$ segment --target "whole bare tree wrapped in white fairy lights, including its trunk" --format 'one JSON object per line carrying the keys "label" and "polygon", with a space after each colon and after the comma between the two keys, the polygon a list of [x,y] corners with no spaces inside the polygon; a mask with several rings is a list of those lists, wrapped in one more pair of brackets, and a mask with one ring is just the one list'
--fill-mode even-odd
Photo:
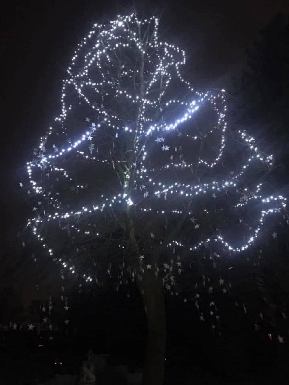
{"label": "whole bare tree wrapped in white fairy lights, including its trunk", "polygon": [[[159,40],[156,17],[95,24],[67,70],[61,114],[27,163],[29,182],[20,183],[33,207],[27,227],[65,278],[116,290],[136,283],[147,385],[163,383],[164,290],[177,291],[194,255],[199,272],[202,261],[218,272],[208,294],[214,285],[225,293],[219,254],[248,249],[264,217],[285,205],[282,196],[262,201],[259,179],[272,157],[244,132],[227,133],[225,92],[195,91],[183,64],[185,53]],[[248,209],[256,204],[257,213]]]}

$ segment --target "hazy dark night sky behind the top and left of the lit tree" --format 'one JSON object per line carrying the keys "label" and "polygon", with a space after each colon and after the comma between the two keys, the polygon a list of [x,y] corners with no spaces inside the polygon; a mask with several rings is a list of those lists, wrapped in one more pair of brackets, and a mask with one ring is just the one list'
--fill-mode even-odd
{"label": "hazy dark night sky behind the top and left of the lit tree", "polygon": [[[7,250],[15,242],[27,207],[19,191],[25,162],[59,113],[61,80],[77,43],[92,23],[110,20],[132,3],[26,0],[2,5],[1,218]],[[200,88],[227,89],[260,28],[276,13],[289,13],[286,0],[150,3],[151,10],[155,5],[163,9],[160,30],[166,40],[186,50],[186,76]]]}

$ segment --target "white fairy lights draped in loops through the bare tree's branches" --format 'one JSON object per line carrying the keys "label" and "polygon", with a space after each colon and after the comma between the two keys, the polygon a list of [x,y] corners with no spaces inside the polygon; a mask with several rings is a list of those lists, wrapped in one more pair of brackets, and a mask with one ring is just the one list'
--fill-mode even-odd
{"label": "white fairy lights draped in loops through the bare tree's branches", "polygon": [[[150,39],[144,39],[139,36],[137,31],[146,30],[146,27],[153,27],[153,32],[149,36]],[[141,27],[141,28],[140,28]],[[133,79],[134,71],[126,65],[118,67],[118,76],[111,76],[108,68],[114,69],[115,57],[119,50],[137,50],[137,55],[141,55],[147,60],[148,67],[144,70],[144,89],[143,93],[139,91],[131,91],[123,87],[123,79]],[[200,196],[210,197],[210,199],[218,199],[229,190],[238,189],[240,181],[246,176],[246,172],[250,170],[253,164],[261,164],[269,168],[272,166],[272,156],[264,156],[256,146],[255,139],[246,134],[239,132],[240,141],[242,141],[249,149],[250,156],[238,172],[231,172],[227,179],[212,180],[211,182],[198,181],[197,183],[181,183],[174,182],[166,184],[166,181],[161,181],[158,176],[154,176],[155,171],[182,169],[189,170],[193,166],[192,162],[186,161],[181,147],[171,147],[168,139],[177,134],[178,138],[185,141],[204,140],[213,132],[220,133],[219,147],[217,156],[214,159],[204,159],[200,157],[198,164],[212,169],[217,166],[223,159],[226,142],[225,121],[226,104],[224,90],[214,94],[213,92],[197,92],[189,82],[181,76],[180,67],[185,64],[185,52],[180,50],[175,45],[170,45],[166,42],[160,42],[158,39],[158,19],[155,17],[146,20],[138,20],[135,13],[128,16],[118,16],[108,25],[94,24],[91,31],[88,33],[77,47],[71,64],[67,69],[68,77],[63,81],[61,92],[61,113],[55,118],[55,124],[60,126],[60,133],[57,132],[57,145],[53,142],[55,138],[55,128],[49,127],[49,131],[40,138],[38,149],[35,149],[34,159],[27,162],[27,174],[29,182],[24,184],[20,182],[20,187],[26,189],[27,194],[35,203],[32,208],[32,217],[27,221],[27,227],[32,228],[32,233],[40,241],[44,250],[53,256],[57,261],[62,263],[63,268],[67,268],[72,273],[75,273],[75,266],[68,261],[62,261],[62,257],[54,255],[53,245],[48,244],[45,236],[42,235],[41,229],[47,222],[56,225],[64,223],[62,227],[67,228],[65,223],[72,223],[70,229],[79,236],[100,236],[99,233],[91,234],[85,226],[81,226],[79,220],[95,216],[96,214],[108,210],[110,207],[124,207],[138,205],[138,210],[141,212],[153,212],[155,215],[183,214],[184,211],[178,208],[156,209],[159,199],[167,201],[172,196],[178,196],[180,199],[194,199]],[[97,70],[97,81],[94,80],[94,71]],[[166,91],[172,80],[178,79],[180,84],[183,84],[187,89],[186,99],[180,98],[166,100]],[[161,81],[162,87],[159,86]],[[160,87],[158,96],[150,96],[153,94],[155,86]],[[71,99],[72,91],[74,90],[74,101],[67,102],[67,95]],[[95,102],[90,95],[96,95],[101,100]],[[119,104],[128,102],[130,105],[136,105],[140,109],[139,124],[132,125],[124,122],[116,112],[111,112],[109,109],[109,100],[117,99]],[[87,128],[74,139],[69,137],[69,117],[74,114],[74,110],[79,106],[79,103],[84,107],[89,108],[91,114],[89,117],[83,117]],[[175,108],[181,112],[171,118],[171,111]],[[204,107],[212,109],[215,113],[215,126],[210,127],[208,131],[200,136],[196,132],[181,132],[180,130],[188,121],[193,121],[198,111]],[[154,114],[152,115],[152,112]],[[154,116],[154,117],[153,117]],[[132,164],[129,164],[129,175],[134,171],[133,189],[129,189],[129,183],[123,182],[120,186],[120,191],[114,196],[103,196],[99,199],[88,201],[85,206],[68,208],[62,202],[63,191],[61,186],[58,191],[55,191],[55,185],[52,183],[52,175],[57,175],[57,181],[72,181],[72,175],[65,169],[65,165],[61,164],[67,156],[77,154],[84,160],[108,164],[111,170],[115,170],[116,162],[121,160],[101,159],[99,157],[98,143],[95,142],[96,133],[101,132],[104,128],[108,128],[111,133],[111,151],[118,145],[121,136],[130,135],[135,137],[135,150]],[[193,130],[193,129],[192,129]],[[79,130],[79,131],[82,131]],[[61,143],[60,139],[63,142]],[[150,146],[150,143],[153,142]],[[59,144],[60,143],[60,144]],[[168,143],[168,144],[167,144]],[[168,154],[168,159],[164,166],[151,167],[149,161],[150,147],[155,151],[155,147],[159,146],[158,151],[161,154]],[[111,153],[110,151],[110,153]],[[175,161],[174,156],[179,152],[179,161]],[[41,170],[42,177],[46,179],[43,182],[35,178],[35,171]],[[89,181],[87,181],[89,182]],[[52,184],[54,186],[52,186]],[[59,184],[57,184],[59,186]],[[86,189],[85,184],[77,184],[73,187],[77,189]],[[193,224],[193,231],[200,231],[200,241],[195,244],[183,244],[177,239],[172,239],[168,243],[168,247],[178,245],[187,247],[193,251],[208,243],[220,243],[225,248],[233,252],[240,252],[247,249],[256,238],[258,238],[261,226],[264,224],[264,219],[268,215],[277,214],[281,209],[286,207],[286,198],[281,195],[270,195],[269,197],[262,196],[260,190],[262,183],[255,187],[255,191],[246,192],[239,199],[238,203],[232,206],[233,209],[241,208],[249,203],[256,201],[262,203],[264,209],[260,210],[260,215],[256,218],[255,226],[250,226],[250,236],[243,244],[235,246],[230,244],[228,239],[224,239],[220,234],[220,230],[216,229],[216,233],[206,237],[202,234],[201,224],[195,218],[191,218],[192,212],[188,210],[187,215]],[[139,197],[141,191],[141,197]],[[150,199],[151,206],[146,204],[146,199]],[[76,201],[76,199],[75,199]],[[44,202],[46,206],[44,205]],[[141,203],[141,204],[139,204]],[[143,206],[142,206],[143,204]],[[45,207],[45,208],[44,208]],[[206,211],[206,210],[205,210]],[[208,213],[208,211],[207,211]],[[288,217],[284,216],[288,224]],[[41,225],[41,226],[40,226]],[[61,228],[61,226],[60,226]],[[277,233],[274,233],[277,234]],[[273,234],[272,234],[273,236]],[[153,233],[151,238],[157,243],[161,243]],[[273,236],[275,239],[276,236]],[[23,243],[25,246],[25,243]],[[91,276],[84,275],[87,281],[92,281]]]}

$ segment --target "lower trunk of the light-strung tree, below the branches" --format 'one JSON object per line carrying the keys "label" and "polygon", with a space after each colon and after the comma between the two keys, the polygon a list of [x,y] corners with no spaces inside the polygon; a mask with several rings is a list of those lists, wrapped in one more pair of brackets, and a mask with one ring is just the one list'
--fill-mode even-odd
{"label": "lower trunk of the light-strung tree, below the branches", "polygon": [[152,272],[142,282],[146,310],[147,348],[143,385],[163,385],[166,352],[166,312],[163,284]]}

